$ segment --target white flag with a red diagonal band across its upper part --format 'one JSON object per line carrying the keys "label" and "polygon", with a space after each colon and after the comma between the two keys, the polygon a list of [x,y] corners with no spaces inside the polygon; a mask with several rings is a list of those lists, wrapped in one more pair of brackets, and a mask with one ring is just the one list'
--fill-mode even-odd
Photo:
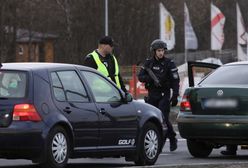
{"label": "white flag with a red diagonal band across its upper part", "polygon": [[225,16],[211,3],[211,49],[221,50],[224,43]]}

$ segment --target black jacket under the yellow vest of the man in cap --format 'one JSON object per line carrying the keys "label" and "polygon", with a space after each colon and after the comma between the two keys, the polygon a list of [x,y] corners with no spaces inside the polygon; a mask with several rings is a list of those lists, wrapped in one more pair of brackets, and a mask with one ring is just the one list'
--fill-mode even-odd
{"label": "black jacket under the yellow vest of the man in cap", "polygon": [[[115,61],[114,61],[113,55],[108,54],[108,55],[106,55],[106,57],[103,57],[97,52],[97,50],[96,50],[96,53],[99,55],[99,58],[102,61],[102,63],[107,67],[107,70],[108,70],[108,73],[109,73],[111,80],[113,82],[115,82]],[[97,69],[96,62],[95,62],[95,60],[91,54],[89,54],[85,57],[83,65]],[[119,76],[119,80],[120,80],[121,89],[124,92],[127,92],[120,73],[118,74],[118,76]]]}

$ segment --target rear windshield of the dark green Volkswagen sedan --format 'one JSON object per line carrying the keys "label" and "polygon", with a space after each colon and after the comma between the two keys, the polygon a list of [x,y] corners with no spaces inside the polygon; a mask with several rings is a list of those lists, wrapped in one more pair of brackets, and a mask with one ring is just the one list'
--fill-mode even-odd
{"label": "rear windshield of the dark green Volkswagen sedan", "polygon": [[246,85],[248,84],[247,65],[228,65],[218,68],[199,85]]}

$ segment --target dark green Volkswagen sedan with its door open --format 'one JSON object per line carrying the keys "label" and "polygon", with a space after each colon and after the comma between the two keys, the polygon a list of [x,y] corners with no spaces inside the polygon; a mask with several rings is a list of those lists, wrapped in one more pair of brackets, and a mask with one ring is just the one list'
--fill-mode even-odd
{"label": "dark green Volkswagen sedan with its door open", "polygon": [[[193,67],[217,68],[196,86]],[[213,148],[248,144],[248,62],[189,63],[190,86],[177,117],[190,154],[207,157]]]}

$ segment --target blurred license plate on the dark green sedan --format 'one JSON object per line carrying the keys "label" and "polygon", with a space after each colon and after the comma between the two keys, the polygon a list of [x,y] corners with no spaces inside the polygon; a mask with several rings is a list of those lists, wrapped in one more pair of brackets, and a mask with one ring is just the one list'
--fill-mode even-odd
{"label": "blurred license plate on the dark green sedan", "polygon": [[238,101],[236,99],[207,99],[204,102],[206,108],[237,108]]}

